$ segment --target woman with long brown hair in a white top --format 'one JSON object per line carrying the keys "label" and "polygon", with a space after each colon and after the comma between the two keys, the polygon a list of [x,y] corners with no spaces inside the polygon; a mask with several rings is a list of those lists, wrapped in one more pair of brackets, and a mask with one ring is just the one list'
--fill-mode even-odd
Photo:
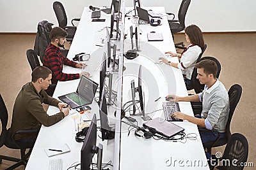
{"label": "woman with long brown hair in a white top", "polygon": [[190,45],[182,53],[166,52],[172,57],[178,57],[180,62],[170,62],[164,57],[160,57],[159,59],[163,60],[165,64],[181,69],[186,83],[191,85],[191,76],[196,60],[204,49],[204,36],[200,28],[196,25],[189,25],[184,31],[186,41],[188,41]]}

